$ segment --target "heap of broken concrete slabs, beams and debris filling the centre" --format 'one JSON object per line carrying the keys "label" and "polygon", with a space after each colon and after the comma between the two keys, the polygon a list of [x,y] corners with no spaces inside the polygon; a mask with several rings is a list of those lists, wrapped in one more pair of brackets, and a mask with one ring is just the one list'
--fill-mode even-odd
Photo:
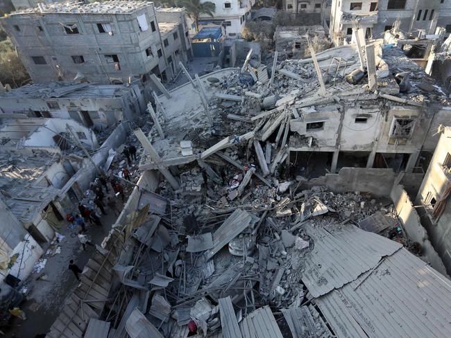
{"label": "heap of broken concrete slabs, beams and debris filling the centre", "polygon": [[[249,75],[268,75],[255,62],[207,79],[210,84],[196,77],[197,88],[186,86],[201,100],[187,103],[185,116],[172,115],[163,96],[167,118],[149,105],[154,123],[135,130],[133,142],[144,147],[140,168],[166,178],[155,193],[167,204],[160,210],[148,204],[148,213],[138,206],[117,224],[115,231],[130,229],[136,235],[126,236],[128,249],[121,256],[127,278],[103,309],[104,320],[117,328],[112,337],[124,330],[130,337],[142,337],[144,330],[153,337],[187,337],[189,332],[196,337],[289,337],[289,332],[334,337],[316,305],[322,293],[310,292],[309,260],[323,245],[316,233],[364,229],[394,241],[388,254],[404,246],[421,256],[421,245],[405,233],[391,199],[360,191],[334,193],[290,175],[291,119],[331,102],[374,101],[379,95],[381,102],[396,98],[414,105],[440,96],[419,89],[382,96],[370,91],[364,78],[344,84],[346,75],[359,69],[357,53],[344,48],[343,69],[325,71],[324,61],[334,54],[328,53],[313,60],[276,60],[271,82],[255,82]],[[320,74],[313,61],[322,64]],[[381,60],[378,64],[385,66]],[[203,86],[205,91],[198,89]],[[199,114],[203,118],[187,118]],[[146,229],[146,240],[140,229]],[[323,277],[318,278],[321,284]],[[266,329],[255,334],[262,325]]]}

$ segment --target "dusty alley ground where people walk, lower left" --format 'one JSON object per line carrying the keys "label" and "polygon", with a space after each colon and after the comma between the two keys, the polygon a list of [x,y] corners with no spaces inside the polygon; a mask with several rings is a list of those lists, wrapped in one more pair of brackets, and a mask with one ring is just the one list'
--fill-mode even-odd
{"label": "dusty alley ground where people walk, lower left", "polygon": [[[131,188],[128,189],[131,191]],[[110,196],[112,192],[110,189]],[[127,197],[127,195],[126,195]],[[121,200],[117,199],[117,207],[122,208]],[[76,207],[76,206],[75,206]],[[112,224],[117,219],[117,214],[107,209],[108,215],[102,215],[101,222],[103,226],[87,224],[87,235],[91,238],[93,244],[101,244],[105,235],[110,231]],[[78,227],[76,229],[69,228],[69,222],[60,223],[60,233],[65,238],[58,245],[61,247],[61,253],[55,256],[44,255],[48,258],[46,266],[40,274],[32,274],[26,285],[30,287],[30,291],[26,296],[26,301],[22,304],[22,310],[26,313],[27,319],[14,318],[10,321],[9,328],[4,337],[20,337],[33,338],[35,335],[43,334],[49,331],[53,321],[64,304],[66,297],[74,290],[77,280],[74,274],[67,269],[69,260],[74,259],[78,267],[83,269],[87,260],[94,251],[94,247],[87,245],[86,251],[83,251],[81,244],[77,238]],[[44,273],[46,281],[37,279]]]}

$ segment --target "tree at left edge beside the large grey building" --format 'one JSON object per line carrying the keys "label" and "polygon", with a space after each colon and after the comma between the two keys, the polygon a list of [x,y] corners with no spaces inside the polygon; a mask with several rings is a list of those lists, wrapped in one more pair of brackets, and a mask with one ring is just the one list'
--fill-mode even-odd
{"label": "tree at left edge beside the large grey building", "polygon": [[30,80],[9,37],[0,42],[0,82],[11,87],[20,87]]}

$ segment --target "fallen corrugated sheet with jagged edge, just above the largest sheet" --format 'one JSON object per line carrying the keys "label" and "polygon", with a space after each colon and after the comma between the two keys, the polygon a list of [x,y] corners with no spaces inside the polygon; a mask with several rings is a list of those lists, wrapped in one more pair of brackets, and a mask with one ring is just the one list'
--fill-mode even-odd
{"label": "fallen corrugated sheet with jagged edge, just above the largest sheet", "polygon": [[354,281],[372,269],[383,256],[402,247],[375,233],[346,224],[335,228],[305,226],[314,249],[305,254],[302,280],[314,297]]}

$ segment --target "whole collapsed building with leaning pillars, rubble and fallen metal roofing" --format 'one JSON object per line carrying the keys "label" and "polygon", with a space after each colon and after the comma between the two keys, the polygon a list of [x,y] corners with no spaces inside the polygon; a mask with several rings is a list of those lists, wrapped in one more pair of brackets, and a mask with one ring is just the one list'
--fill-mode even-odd
{"label": "whole collapsed building with leaning pillars, rubble and fallen metal roofing", "polygon": [[[48,337],[448,336],[447,272],[402,179],[449,103],[392,49],[276,53],[271,76],[249,53],[163,88],[134,131],[137,187]],[[321,148],[312,175],[296,154]]]}

